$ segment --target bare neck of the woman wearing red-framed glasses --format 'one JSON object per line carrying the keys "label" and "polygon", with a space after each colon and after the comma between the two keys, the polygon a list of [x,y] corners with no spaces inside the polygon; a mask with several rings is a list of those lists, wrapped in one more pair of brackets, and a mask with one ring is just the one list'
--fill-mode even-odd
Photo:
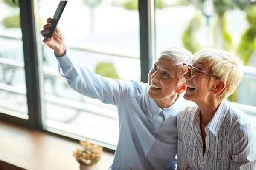
{"label": "bare neck of the woman wearing red-framed glasses", "polygon": [[212,120],[220,104],[221,104],[221,101],[218,101],[218,100],[197,104],[201,112],[201,115],[200,115],[201,125],[207,126],[209,124],[209,122]]}

